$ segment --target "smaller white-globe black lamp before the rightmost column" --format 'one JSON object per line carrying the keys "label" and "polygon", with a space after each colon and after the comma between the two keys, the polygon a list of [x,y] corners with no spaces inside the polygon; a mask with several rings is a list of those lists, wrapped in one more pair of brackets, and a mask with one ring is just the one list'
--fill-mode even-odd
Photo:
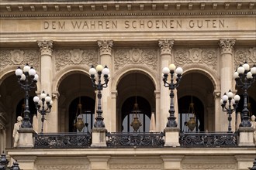
{"label": "smaller white-globe black lamp before the rightmost column", "polygon": [[[227,100],[228,100],[228,107],[226,107],[227,104]],[[220,100],[220,104],[222,107],[222,110],[227,112],[228,117],[228,131],[227,133],[232,133],[232,129],[231,129],[231,121],[232,121],[232,117],[231,114],[233,113],[233,111],[235,111],[237,109],[237,104],[240,100],[240,96],[239,95],[235,95],[231,92],[231,90],[229,90],[229,92],[226,94],[224,93],[222,99]],[[233,108],[231,107],[233,106]]]}

